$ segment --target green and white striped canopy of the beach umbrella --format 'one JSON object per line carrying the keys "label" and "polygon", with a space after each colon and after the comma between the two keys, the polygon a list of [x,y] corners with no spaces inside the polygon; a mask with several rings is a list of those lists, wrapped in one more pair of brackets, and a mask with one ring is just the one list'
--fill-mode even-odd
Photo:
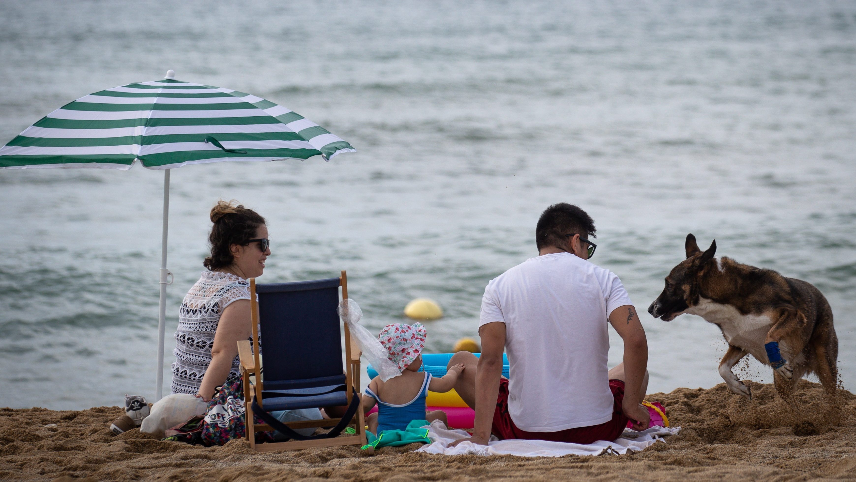
{"label": "green and white striped canopy of the beach umbrella", "polygon": [[330,159],[354,151],[315,122],[264,98],[165,79],[63,105],[0,147],[0,168],[128,170],[139,160],[163,170],[318,154]]}

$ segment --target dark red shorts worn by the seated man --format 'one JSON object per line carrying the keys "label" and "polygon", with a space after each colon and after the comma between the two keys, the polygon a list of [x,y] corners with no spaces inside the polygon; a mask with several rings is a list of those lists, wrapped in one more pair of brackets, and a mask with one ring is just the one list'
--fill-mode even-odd
{"label": "dark red shorts worn by the seated man", "polygon": [[560,431],[525,431],[520,430],[508,414],[508,378],[502,378],[499,383],[499,397],[496,398],[496,410],[493,412],[493,426],[490,431],[499,437],[526,438],[530,440],[550,440],[551,442],[592,443],[597,440],[615,440],[627,426],[627,417],[621,410],[624,400],[624,382],[609,380],[609,390],[612,390],[612,420],[600,425],[581,426]]}

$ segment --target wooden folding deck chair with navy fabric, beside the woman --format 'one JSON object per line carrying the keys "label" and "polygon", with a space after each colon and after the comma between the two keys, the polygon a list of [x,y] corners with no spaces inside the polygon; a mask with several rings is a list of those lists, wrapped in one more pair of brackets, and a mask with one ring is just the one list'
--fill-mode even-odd
{"label": "wooden folding deck chair with navy fabric, beside the woman", "polygon": [[[344,324],[346,367],[342,370],[342,330],[336,307],[340,286],[342,299],[348,298],[346,276],[342,271],[342,277],[338,278],[274,284],[256,284],[255,278],[250,278],[253,350],[248,340],[242,340],[238,342],[238,355],[244,381],[247,438],[253,449],[366,444],[366,422],[359,393],[360,349],[351,339],[348,324]],[[265,336],[261,356],[259,328]],[[264,359],[264,365],[260,359]],[[264,366],[264,370],[259,370],[259,366]],[[348,406],[348,412],[341,419],[285,424],[270,415],[277,410],[329,406]],[[265,420],[265,425],[254,424],[253,414]],[[356,435],[338,437],[352,420]],[[317,436],[306,437],[293,431],[331,425],[335,426],[329,433]],[[279,431],[291,441],[257,444],[255,433],[270,430]]]}

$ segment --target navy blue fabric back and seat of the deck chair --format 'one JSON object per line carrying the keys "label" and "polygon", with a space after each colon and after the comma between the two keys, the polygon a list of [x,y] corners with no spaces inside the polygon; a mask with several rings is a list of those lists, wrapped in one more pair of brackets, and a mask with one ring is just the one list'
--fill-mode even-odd
{"label": "navy blue fabric back and seat of the deck chair", "polygon": [[265,411],[348,404],[339,278],[256,284]]}

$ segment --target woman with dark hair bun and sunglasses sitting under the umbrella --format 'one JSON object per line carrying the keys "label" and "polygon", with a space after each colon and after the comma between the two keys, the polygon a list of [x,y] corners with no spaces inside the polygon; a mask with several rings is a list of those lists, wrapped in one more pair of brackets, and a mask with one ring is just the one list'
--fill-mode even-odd
{"label": "woman with dark hair bun and sunglasses sitting under the umbrella", "polygon": [[175,330],[173,393],[189,393],[205,402],[228,378],[240,376],[238,340],[252,334],[251,277],[265,271],[270,256],[265,218],[236,201],[211,208],[211,256],[199,281],[181,302]]}

